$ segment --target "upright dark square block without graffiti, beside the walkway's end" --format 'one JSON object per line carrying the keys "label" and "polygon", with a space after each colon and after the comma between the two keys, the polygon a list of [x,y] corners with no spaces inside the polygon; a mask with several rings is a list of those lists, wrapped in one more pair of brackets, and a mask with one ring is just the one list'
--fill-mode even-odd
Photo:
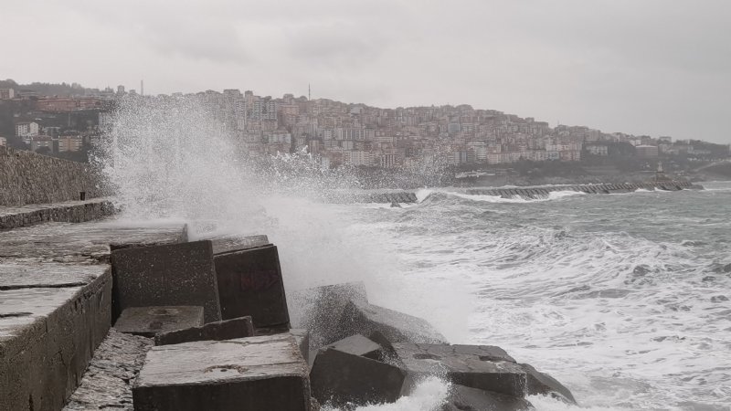
{"label": "upright dark square block without graffiti, beside the walkway's end", "polygon": [[128,307],[199,305],[206,322],[221,320],[210,241],[116,249],[111,268],[114,318]]}

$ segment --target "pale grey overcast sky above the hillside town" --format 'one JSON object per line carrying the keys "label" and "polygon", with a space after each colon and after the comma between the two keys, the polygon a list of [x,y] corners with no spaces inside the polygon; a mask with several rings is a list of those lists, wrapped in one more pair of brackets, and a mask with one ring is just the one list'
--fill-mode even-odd
{"label": "pale grey overcast sky above the hillside town", "polygon": [[731,142],[728,0],[1,0],[0,79],[471,104]]}

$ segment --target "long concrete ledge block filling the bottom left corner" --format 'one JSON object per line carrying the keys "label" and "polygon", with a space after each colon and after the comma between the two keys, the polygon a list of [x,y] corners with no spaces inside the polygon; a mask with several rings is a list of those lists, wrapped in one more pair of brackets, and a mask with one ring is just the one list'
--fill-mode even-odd
{"label": "long concrete ledge block filling the bottom left corner", "polygon": [[[16,284],[17,285],[17,284]],[[0,409],[60,409],[109,330],[111,274],[0,291]]]}

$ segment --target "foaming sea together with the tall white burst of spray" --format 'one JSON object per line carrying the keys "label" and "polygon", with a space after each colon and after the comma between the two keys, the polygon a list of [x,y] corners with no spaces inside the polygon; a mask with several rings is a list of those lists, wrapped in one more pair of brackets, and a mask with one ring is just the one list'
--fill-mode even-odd
{"label": "foaming sea together with the tall white burst of spray", "polygon": [[[583,408],[729,409],[731,184],[544,200],[442,188],[404,208],[327,204],[325,192],[357,179],[305,154],[251,160],[218,124],[193,100],[122,103],[96,158],[122,218],[267,234],[287,290],[363,280],[372,302],[450,342],[502,346]],[[431,378],[358,410],[438,409],[449,387]]]}

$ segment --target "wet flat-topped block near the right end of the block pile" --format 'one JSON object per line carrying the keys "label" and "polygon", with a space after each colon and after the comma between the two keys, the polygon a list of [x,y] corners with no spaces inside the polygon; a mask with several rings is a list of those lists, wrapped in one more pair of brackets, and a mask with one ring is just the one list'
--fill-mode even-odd
{"label": "wet flat-topped block near the right end of the block pile", "polygon": [[454,384],[523,397],[524,369],[499,347],[394,343],[398,363],[408,372],[405,393],[430,374],[446,374]]}

